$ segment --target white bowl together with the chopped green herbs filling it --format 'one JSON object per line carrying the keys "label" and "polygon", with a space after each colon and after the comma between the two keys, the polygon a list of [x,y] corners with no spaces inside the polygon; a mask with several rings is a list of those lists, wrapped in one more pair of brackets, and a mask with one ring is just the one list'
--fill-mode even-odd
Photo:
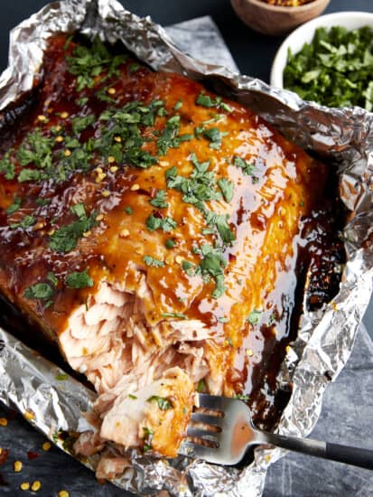
{"label": "white bowl together with the chopped green herbs filling it", "polygon": [[275,55],[271,85],[329,107],[373,110],[373,14],[326,14],[291,33]]}

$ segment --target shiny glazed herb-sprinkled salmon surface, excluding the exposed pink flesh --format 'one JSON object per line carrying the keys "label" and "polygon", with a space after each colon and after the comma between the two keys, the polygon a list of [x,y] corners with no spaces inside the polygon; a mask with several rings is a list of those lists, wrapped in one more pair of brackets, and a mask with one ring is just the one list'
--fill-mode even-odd
{"label": "shiny glazed herb-sprinkled salmon surface, excluding the exposed pink flesh", "polygon": [[310,308],[338,290],[327,168],[247,108],[96,44],[52,37],[3,115],[0,290],[57,340],[100,281],[131,291],[140,268],[148,325],[214,329],[224,393],[272,427],[304,287]]}

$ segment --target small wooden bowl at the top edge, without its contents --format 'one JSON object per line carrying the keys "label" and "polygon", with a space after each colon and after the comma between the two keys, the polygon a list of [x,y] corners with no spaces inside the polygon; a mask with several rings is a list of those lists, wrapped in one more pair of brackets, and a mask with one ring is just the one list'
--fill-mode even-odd
{"label": "small wooden bowl at the top edge, without its contents", "polygon": [[299,7],[269,5],[261,0],[231,0],[238,17],[251,29],[264,34],[289,33],[322,14],[330,0],[312,0]]}

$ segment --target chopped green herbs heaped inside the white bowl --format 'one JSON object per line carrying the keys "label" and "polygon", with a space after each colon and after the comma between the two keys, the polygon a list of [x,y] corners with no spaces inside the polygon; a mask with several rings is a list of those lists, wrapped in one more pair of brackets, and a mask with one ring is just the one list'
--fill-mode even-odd
{"label": "chopped green herbs heaped inside the white bowl", "polygon": [[373,109],[373,30],[319,28],[311,43],[292,54],[284,68],[284,88],[329,107]]}

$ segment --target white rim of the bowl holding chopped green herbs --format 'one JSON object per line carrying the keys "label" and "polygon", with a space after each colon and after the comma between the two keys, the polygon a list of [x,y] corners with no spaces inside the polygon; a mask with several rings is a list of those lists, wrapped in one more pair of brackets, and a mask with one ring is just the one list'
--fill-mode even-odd
{"label": "white rim of the bowl holding chopped green herbs", "polygon": [[[367,22],[367,24],[371,25],[371,27],[373,28],[373,13],[365,11],[334,12],[331,14],[319,15],[318,17],[315,17],[311,21],[303,23],[301,26],[296,28],[294,32],[286,36],[284,42],[281,43],[279,49],[275,53],[275,58],[274,61],[272,62],[272,67],[271,67],[269,84],[272,87],[284,89],[283,75],[284,75],[284,66],[286,65],[287,61],[287,50],[289,47],[292,46],[292,42],[294,42],[294,40],[296,40],[300,34],[302,35],[301,32],[303,32],[304,28],[311,28],[311,29],[313,28],[314,32],[316,28],[322,26],[326,28],[331,28],[332,25],[337,25],[337,22],[339,20],[347,18],[349,20],[361,20],[361,27],[364,25],[364,22]],[[333,23],[332,24],[328,23],[328,21],[331,20],[333,21]],[[352,29],[358,29],[358,28],[351,28],[351,30]],[[306,41],[304,41],[304,43],[305,42]],[[284,54],[285,54],[285,61],[284,61]]]}

